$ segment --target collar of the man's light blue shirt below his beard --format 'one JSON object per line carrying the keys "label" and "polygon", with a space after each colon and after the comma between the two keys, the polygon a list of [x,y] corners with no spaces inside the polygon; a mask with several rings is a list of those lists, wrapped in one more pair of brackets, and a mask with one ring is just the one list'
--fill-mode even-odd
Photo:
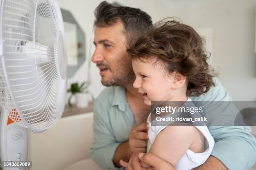
{"label": "collar of the man's light blue shirt below his beard", "polygon": [[121,86],[115,87],[112,106],[118,105],[118,108],[124,112],[126,104],[127,104],[127,99],[125,94],[125,87],[121,87]]}

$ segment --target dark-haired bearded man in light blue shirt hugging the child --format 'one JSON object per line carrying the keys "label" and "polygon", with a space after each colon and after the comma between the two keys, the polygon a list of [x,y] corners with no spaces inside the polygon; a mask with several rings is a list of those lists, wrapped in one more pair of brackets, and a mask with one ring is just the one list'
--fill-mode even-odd
{"label": "dark-haired bearded man in light blue shirt hugging the child", "polygon": [[[133,153],[145,153],[148,135],[146,118],[150,107],[132,86],[135,76],[126,49],[136,37],[151,26],[151,17],[131,7],[115,7],[102,2],[95,10],[95,52],[92,62],[97,64],[105,88],[94,104],[94,140],[91,158],[102,168],[121,167]],[[206,95],[192,100],[231,100],[227,91],[215,80]],[[256,142],[250,128],[208,127],[215,139],[211,156],[197,169],[249,169],[255,162]],[[133,155],[135,158],[137,155]],[[131,162],[129,162],[131,164]],[[138,163],[138,162],[137,162]]]}

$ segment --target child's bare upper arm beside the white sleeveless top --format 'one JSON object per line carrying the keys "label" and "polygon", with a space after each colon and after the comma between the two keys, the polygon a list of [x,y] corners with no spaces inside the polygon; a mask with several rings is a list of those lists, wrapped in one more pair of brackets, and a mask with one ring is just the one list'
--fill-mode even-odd
{"label": "child's bare upper arm beside the white sleeveless top", "polygon": [[192,125],[167,126],[154,140],[149,153],[166,160],[174,167],[179,163],[187,149],[195,148],[196,140],[202,134]]}

